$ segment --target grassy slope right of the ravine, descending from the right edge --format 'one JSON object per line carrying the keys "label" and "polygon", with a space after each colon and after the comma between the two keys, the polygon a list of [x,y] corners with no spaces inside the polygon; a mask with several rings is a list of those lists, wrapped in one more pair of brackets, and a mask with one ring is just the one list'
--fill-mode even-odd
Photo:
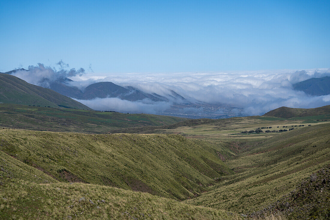
{"label": "grassy slope right of the ravine, descending from the right edge", "polygon": [[262,209],[330,164],[329,134],[326,123],[249,142],[240,155],[225,162],[235,175],[222,177],[208,192],[185,202],[238,213]]}

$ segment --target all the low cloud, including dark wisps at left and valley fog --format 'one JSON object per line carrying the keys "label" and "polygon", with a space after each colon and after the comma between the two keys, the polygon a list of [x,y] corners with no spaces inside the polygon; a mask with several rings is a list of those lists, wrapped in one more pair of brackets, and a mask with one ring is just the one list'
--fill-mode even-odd
{"label": "all the low cloud, including dark wisps at left and valley fog", "polygon": [[[96,82],[113,82],[132,86],[140,91],[167,96],[173,91],[183,96],[186,102],[223,104],[243,108],[244,115],[262,115],[272,109],[287,106],[314,108],[330,104],[330,95],[310,96],[293,90],[293,84],[310,78],[330,76],[330,69],[276,70],[276,71],[228,71],[208,73],[129,73],[129,74],[85,74],[84,69],[69,69],[60,61],[61,70],[43,64],[30,66],[29,71],[17,71],[13,75],[35,85],[48,87],[49,81],[68,77],[69,82],[81,89]],[[46,80],[45,80],[46,79]],[[144,112],[157,114],[169,109],[170,102],[150,100],[127,101],[119,98],[78,100],[96,110],[120,112]],[[184,109],[183,109],[184,110]],[[187,113],[203,113],[203,109],[186,108]],[[216,110],[219,114],[222,110]]]}

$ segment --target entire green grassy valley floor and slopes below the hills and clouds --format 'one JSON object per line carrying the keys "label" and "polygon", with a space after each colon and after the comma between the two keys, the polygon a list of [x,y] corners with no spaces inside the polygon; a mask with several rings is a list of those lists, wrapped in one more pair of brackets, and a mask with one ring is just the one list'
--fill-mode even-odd
{"label": "entire green grassy valley floor and slopes below the hills and clouds", "polygon": [[328,216],[330,114],[324,108],[292,118],[185,120],[1,107],[3,218]]}

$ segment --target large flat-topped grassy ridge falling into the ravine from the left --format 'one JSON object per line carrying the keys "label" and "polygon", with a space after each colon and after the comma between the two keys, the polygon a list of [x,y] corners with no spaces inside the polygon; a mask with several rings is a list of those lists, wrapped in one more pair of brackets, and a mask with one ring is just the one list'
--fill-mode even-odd
{"label": "large flat-topped grassy ridge falling into the ravine from the left", "polygon": [[200,195],[233,172],[216,152],[181,135],[81,134],[0,130],[0,150],[58,181],[149,192],[179,200]]}

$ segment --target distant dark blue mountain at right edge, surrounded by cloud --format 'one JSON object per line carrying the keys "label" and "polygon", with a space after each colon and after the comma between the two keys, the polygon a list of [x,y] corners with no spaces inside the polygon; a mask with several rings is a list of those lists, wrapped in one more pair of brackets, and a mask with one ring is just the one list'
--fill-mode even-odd
{"label": "distant dark blue mountain at right edge, surrounded by cloud", "polygon": [[310,95],[328,95],[330,94],[330,77],[308,79],[294,84],[293,88]]}

